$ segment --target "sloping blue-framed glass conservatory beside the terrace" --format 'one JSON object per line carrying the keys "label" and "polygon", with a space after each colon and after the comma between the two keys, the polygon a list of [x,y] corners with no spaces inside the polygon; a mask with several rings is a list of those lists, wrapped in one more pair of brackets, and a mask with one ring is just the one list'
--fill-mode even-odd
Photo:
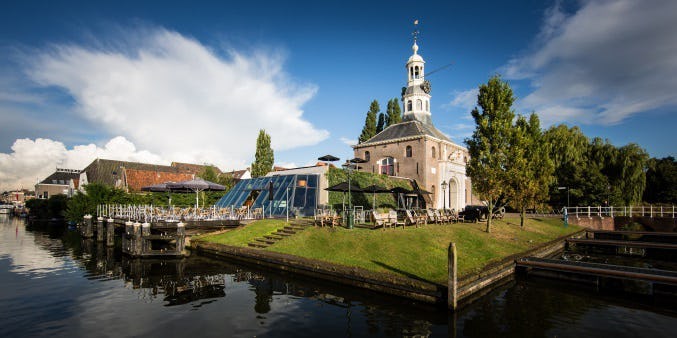
{"label": "sloping blue-framed glass conservatory beside the terrace", "polygon": [[216,207],[262,208],[266,217],[285,216],[289,208],[289,215],[312,216],[317,207],[318,181],[317,174],[266,176],[241,180],[216,202]]}

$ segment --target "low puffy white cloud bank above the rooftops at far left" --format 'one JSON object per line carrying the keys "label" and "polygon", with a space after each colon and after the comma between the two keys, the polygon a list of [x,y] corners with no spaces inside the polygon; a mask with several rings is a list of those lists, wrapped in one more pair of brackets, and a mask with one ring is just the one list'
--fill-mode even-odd
{"label": "low puffy white cloud bank above the rooftops at far left", "polygon": [[88,144],[71,149],[50,139],[19,139],[12,145],[11,153],[0,153],[0,191],[32,190],[38,180],[45,179],[57,167],[84,169],[96,158],[169,164],[159,155],[137,151],[134,144],[122,136],[111,139],[103,147]]}

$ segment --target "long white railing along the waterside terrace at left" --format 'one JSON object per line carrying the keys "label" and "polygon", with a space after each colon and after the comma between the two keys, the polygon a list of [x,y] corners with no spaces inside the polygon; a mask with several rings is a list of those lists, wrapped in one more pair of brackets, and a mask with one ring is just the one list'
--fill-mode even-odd
{"label": "long white railing along the waterside terrace at left", "polygon": [[243,206],[235,208],[207,208],[194,207],[158,207],[153,205],[132,204],[102,204],[97,206],[98,217],[126,219],[139,222],[157,221],[211,221],[211,220],[242,220],[264,218],[265,207],[251,209]]}

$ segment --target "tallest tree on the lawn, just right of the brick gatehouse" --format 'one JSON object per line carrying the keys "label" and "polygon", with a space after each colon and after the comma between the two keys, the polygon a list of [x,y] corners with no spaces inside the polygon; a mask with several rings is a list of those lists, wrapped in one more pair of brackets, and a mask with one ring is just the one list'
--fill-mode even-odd
{"label": "tallest tree on the lawn, just right of the brick gatehouse", "polygon": [[487,232],[491,232],[491,218],[494,208],[507,192],[508,151],[512,133],[511,110],[515,101],[510,86],[496,75],[487,84],[479,87],[477,107],[471,114],[475,120],[475,131],[466,139],[470,161],[466,173],[472,180],[473,190],[487,202],[489,217]]}

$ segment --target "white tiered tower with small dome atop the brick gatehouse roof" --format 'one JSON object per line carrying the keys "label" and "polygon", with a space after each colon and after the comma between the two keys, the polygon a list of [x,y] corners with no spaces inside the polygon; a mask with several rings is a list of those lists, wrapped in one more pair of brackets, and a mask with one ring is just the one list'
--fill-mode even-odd
{"label": "white tiered tower with small dome atop the brick gatehouse roof", "polygon": [[404,103],[404,121],[420,121],[432,124],[430,119],[430,82],[425,79],[425,61],[418,54],[418,44],[414,33],[414,52],[407,61],[407,87],[402,91]]}

